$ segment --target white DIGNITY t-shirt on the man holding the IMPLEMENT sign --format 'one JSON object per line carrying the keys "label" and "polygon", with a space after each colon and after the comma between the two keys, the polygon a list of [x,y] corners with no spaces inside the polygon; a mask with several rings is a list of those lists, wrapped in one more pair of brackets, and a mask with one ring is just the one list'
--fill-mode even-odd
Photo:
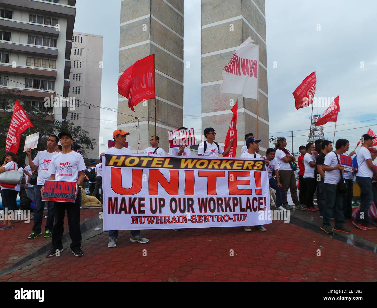
{"label": "white DIGNITY t-shirt on the man holding the IMPLEMENT sign", "polygon": [[55,174],[55,181],[77,182],[78,173],[86,169],[83,156],[75,151],[54,155],[48,172]]}

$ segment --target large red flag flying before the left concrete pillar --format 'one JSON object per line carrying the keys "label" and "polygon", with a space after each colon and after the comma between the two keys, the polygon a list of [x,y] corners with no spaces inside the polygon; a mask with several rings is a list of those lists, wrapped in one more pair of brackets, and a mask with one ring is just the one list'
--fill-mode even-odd
{"label": "large red flag flying before the left concrete pillar", "polygon": [[141,101],[156,97],[155,55],[136,61],[124,71],[118,80],[118,93],[127,97],[132,111]]}

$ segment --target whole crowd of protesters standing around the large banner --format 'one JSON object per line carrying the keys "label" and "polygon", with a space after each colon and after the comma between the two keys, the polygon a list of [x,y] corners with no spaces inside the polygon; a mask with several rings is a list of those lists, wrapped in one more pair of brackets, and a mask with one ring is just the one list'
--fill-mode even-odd
{"label": "whole crowd of protesters standing around the large banner", "polygon": [[[180,127],[179,129],[185,129]],[[100,159],[105,154],[129,155],[132,153],[130,147],[125,147],[126,138],[129,135],[122,129],[113,132],[115,146],[101,153]],[[229,146],[223,149],[216,141],[216,132],[212,127],[204,129],[205,140],[198,146],[198,156],[216,158],[219,154],[227,155],[231,149],[234,138],[230,140]],[[291,209],[301,211],[319,211],[323,220],[322,231],[333,233],[333,231],[351,233],[344,226],[345,218],[351,219],[353,179],[360,187],[360,210],[352,223],[361,230],[375,230],[374,222],[368,217],[369,208],[372,203],[377,203],[377,168],[374,160],[377,156],[377,149],[371,147],[373,138],[370,135],[363,135],[361,149],[357,153],[357,168],[352,171],[345,171],[340,164],[340,155],[353,156],[356,153],[349,150],[349,142],[339,139],[335,143],[329,140],[316,140],[299,147],[300,156],[297,159],[287,146],[284,137],[277,139],[276,149],[268,148],[265,156],[259,154],[259,142],[252,133],[245,135],[245,146],[241,149],[241,158],[264,159],[268,182],[275,191],[276,209],[289,211]],[[102,163],[90,161],[87,167],[81,155],[81,147],[73,145],[72,135],[61,132],[58,136],[51,135],[47,140],[47,149],[37,153],[32,159],[31,149],[26,150],[29,164],[25,168],[18,168],[17,155],[7,152],[5,161],[0,167],[0,173],[8,170],[20,170],[26,176],[26,194],[35,203],[32,233],[29,239],[34,240],[42,235],[42,222],[44,208],[47,208],[47,220],[44,227],[44,237],[51,237],[52,248],[46,257],[57,255],[63,251],[62,237],[64,232],[64,216],[67,212],[69,235],[72,240],[70,249],[72,253],[80,257],[81,231],[80,231],[80,207],[81,189],[87,181],[90,195],[97,197],[103,202],[102,193]],[[150,147],[144,150],[144,155],[165,155],[164,149],[159,147],[159,137],[153,135],[150,138]],[[190,147],[181,144],[179,147],[170,148],[169,155],[192,156]],[[296,174],[298,167],[299,195],[297,194]],[[49,202],[42,201],[44,181],[69,181],[77,182],[75,202]],[[20,184],[1,184],[1,196],[5,210],[17,210],[16,198],[20,191]],[[101,194],[99,193],[101,189]],[[289,205],[287,193],[290,190],[293,206]],[[316,194],[317,203],[314,203]],[[331,226],[334,220],[334,227]],[[12,220],[4,220],[0,230],[14,228]],[[266,231],[262,225],[255,226],[260,231]],[[180,229],[173,229],[179,231]],[[245,231],[252,231],[251,226],[245,226]],[[115,247],[119,231],[109,231],[108,247]],[[147,243],[149,239],[141,235],[140,230],[131,230],[131,242]]]}

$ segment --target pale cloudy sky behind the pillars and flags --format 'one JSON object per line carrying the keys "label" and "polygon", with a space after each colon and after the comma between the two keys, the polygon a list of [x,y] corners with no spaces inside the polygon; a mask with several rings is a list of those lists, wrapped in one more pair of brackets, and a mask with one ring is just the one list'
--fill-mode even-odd
{"label": "pale cloudy sky behind the pillars and flags", "polygon": [[[120,0],[77,0],[75,31],[104,36],[101,104],[117,108]],[[184,123],[201,130],[200,0],[185,1]],[[311,108],[298,111],[292,92],[316,71],[316,97],[340,94],[335,139],[356,146],[369,127],[377,132],[377,2],[362,0],[266,0],[270,136],[290,136],[294,150],[307,143]],[[88,18],[90,16],[90,18]],[[274,63],[276,65],[274,65]],[[275,66],[275,67],[274,67]],[[277,67],[276,67],[277,66]],[[314,108],[322,114],[326,108]],[[100,137],[111,139],[116,112],[101,110]],[[360,128],[358,128],[360,127]],[[334,123],[324,126],[333,140]],[[290,138],[288,146],[291,149]],[[100,147],[100,151],[106,146]]]}

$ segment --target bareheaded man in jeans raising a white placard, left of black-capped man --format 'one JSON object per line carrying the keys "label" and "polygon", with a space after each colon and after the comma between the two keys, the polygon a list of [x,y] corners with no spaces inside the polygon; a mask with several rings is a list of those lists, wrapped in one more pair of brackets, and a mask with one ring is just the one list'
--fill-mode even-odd
{"label": "bareheaded man in jeans raising a white placard, left of black-capped man", "polygon": [[34,186],[34,197],[35,197],[35,207],[34,207],[34,226],[32,233],[29,235],[29,239],[34,239],[39,235],[42,235],[42,220],[43,220],[43,211],[47,207],[47,221],[46,226],[44,227],[44,237],[51,237],[52,228],[54,226],[55,211],[54,211],[54,202],[52,201],[42,201],[41,197],[41,188],[44,185],[44,181],[50,177],[48,168],[51,164],[51,159],[58,152],[55,152],[56,145],[59,142],[59,138],[56,135],[50,135],[47,140],[47,150],[40,151],[37,153],[37,156],[32,160],[31,159],[31,149],[26,150],[26,155],[29,159],[29,166],[32,171],[35,171],[38,168],[38,178],[37,185]]}

